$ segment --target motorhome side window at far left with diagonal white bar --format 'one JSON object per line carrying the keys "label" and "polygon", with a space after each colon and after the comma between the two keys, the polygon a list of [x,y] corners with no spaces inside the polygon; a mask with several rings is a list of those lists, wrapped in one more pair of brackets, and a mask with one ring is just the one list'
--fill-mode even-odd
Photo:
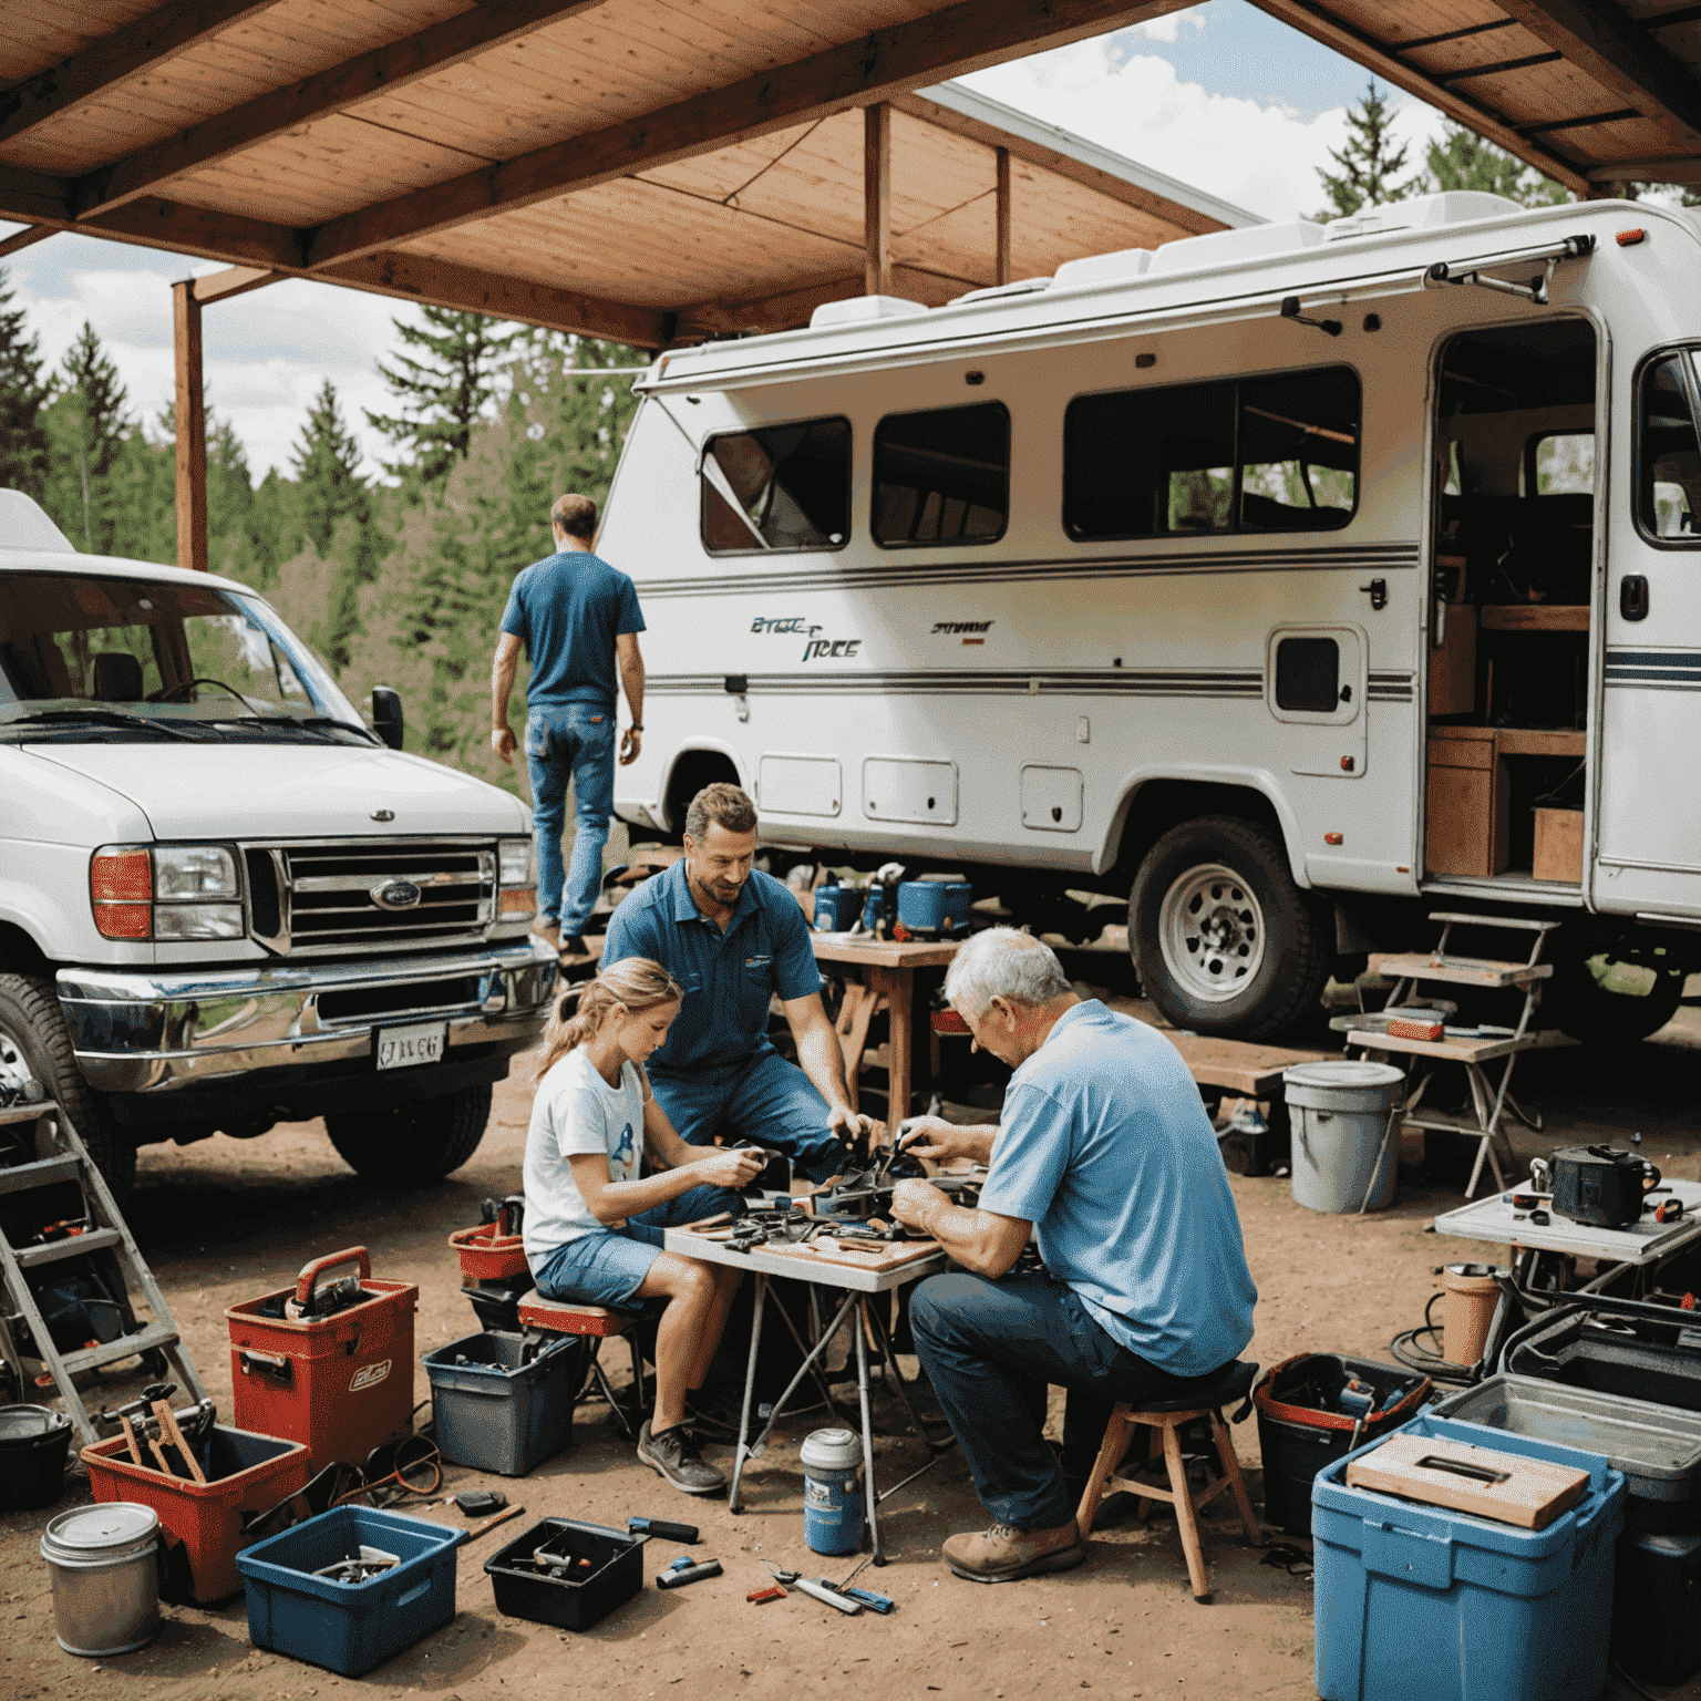
{"label": "motorhome side window at far left with diagonal white bar", "polygon": [[703,454],[709,555],[842,549],[849,538],[849,420],[799,420],[709,439]]}

